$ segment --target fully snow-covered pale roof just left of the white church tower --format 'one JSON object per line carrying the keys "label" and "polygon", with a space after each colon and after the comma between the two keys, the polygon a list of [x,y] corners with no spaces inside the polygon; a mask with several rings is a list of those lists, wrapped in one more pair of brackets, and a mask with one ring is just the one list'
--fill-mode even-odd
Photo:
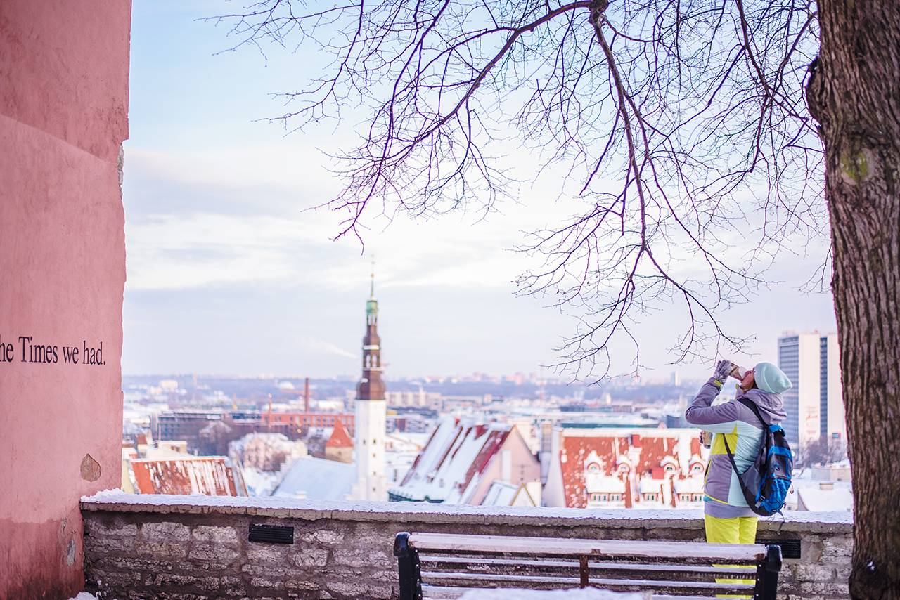
{"label": "fully snow-covered pale roof just left of the white church tower", "polygon": [[344,500],[355,479],[356,466],[352,463],[306,456],[293,461],[272,496]]}

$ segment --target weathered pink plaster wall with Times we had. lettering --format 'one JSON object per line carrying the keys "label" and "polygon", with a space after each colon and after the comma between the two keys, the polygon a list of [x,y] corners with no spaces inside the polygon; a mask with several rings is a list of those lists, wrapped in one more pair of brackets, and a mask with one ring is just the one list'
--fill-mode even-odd
{"label": "weathered pink plaster wall with Times we had. lettering", "polygon": [[0,598],[74,596],[78,497],[120,482],[129,36],[129,0],[0,1]]}

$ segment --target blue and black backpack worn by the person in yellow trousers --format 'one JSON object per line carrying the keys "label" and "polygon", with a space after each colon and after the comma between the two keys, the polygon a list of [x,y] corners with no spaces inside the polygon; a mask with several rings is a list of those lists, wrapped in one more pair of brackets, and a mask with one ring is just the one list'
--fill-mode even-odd
{"label": "blue and black backpack worn by the person in yellow trousers", "polygon": [[741,491],[747,500],[747,506],[750,506],[757,515],[778,514],[788,498],[791,471],[794,469],[794,456],[790,452],[788,440],[785,439],[785,430],[781,425],[766,425],[759,407],[752,400],[741,398],[737,401],[750,408],[760,419],[763,431],[760,452],[757,452],[753,464],[743,473],[734,464],[734,454],[723,436],[725,452],[728,452],[728,460],[731,461],[732,468],[741,483]]}

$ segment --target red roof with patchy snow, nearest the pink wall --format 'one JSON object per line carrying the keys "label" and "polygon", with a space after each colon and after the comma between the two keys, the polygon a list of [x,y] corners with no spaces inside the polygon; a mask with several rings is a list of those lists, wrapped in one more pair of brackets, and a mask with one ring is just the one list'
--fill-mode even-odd
{"label": "red roof with patchy snow, nearest the pink wall", "polygon": [[224,456],[131,461],[139,494],[247,496],[240,472]]}

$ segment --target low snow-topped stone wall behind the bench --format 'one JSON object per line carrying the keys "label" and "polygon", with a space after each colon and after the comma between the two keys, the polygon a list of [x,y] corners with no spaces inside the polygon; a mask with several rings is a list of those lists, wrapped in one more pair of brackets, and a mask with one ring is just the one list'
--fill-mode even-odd
{"label": "low snow-topped stone wall behind the bench", "polygon": [[[199,504],[201,503],[202,504]],[[398,531],[702,541],[696,512],[317,503],[108,496],[82,502],[87,590],[103,598],[392,598]],[[293,525],[292,545],[248,542],[250,524]],[[761,522],[761,539],[801,540],[785,560],[789,599],[847,598],[846,515]]]}

